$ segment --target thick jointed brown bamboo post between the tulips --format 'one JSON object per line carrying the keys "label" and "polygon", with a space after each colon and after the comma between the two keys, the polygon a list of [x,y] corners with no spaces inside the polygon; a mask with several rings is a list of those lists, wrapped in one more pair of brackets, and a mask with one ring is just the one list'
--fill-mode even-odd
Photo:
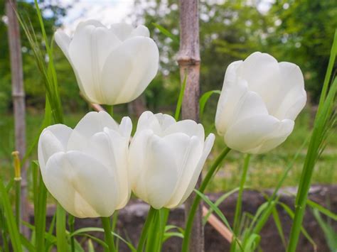
{"label": "thick jointed brown bamboo post between the tulips", "polygon": [[[199,14],[198,0],[180,0],[180,49],[178,53],[181,80],[186,79],[186,88],[183,97],[183,119],[199,120],[199,75],[200,75],[200,52],[199,52]],[[200,185],[200,178],[197,184]],[[193,193],[185,203],[185,219],[191,208],[195,194]],[[198,207],[193,222],[193,229],[189,248],[193,252],[204,251],[203,235],[203,211]]]}

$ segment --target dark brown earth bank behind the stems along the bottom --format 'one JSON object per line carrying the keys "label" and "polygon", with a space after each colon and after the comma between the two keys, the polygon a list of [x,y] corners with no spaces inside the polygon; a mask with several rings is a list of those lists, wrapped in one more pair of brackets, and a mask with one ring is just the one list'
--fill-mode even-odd
{"label": "dark brown earth bank behind the stems along the bottom", "polygon": [[[286,188],[282,190],[280,201],[287,204],[291,209],[293,209],[294,205],[294,197],[289,196],[289,193],[294,193],[294,188]],[[267,193],[270,193],[267,191]],[[213,202],[220,197],[221,194],[210,194],[210,197]],[[225,200],[222,204],[220,204],[220,209],[225,214],[225,217],[228,218],[230,224],[232,224],[235,212],[235,202],[237,199],[237,194],[234,194],[228,199]],[[310,191],[310,199],[314,200],[314,202],[318,202],[328,209],[331,209],[332,212],[337,212],[337,185],[330,186],[314,186],[311,187]],[[261,192],[256,192],[252,190],[247,190],[243,195],[243,204],[242,210],[244,212],[249,212],[251,214],[255,214],[257,208],[260,207],[264,202],[264,197]],[[119,211],[119,220],[117,223],[117,231],[124,238],[130,239],[133,244],[137,244],[137,239],[139,238],[139,233],[141,231],[142,225],[144,224],[147,211],[149,206],[144,202],[141,202],[136,199],[132,199],[127,207]],[[279,218],[282,221],[282,226],[284,229],[284,235],[289,236],[290,228],[291,228],[291,218],[288,216],[287,212],[279,207]],[[52,214],[53,210],[50,209],[49,214]],[[32,218],[33,221],[33,218]],[[174,209],[169,217],[169,224],[173,224],[176,226],[183,226],[183,207],[179,207]],[[336,221],[333,223],[335,229],[337,229]],[[100,219],[76,219],[75,228],[79,229],[85,226],[100,226]],[[304,217],[304,227],[306,231],[311,235],[316,243],[316,251],[324,252],[329,251],[328,246],[326,244],[326,240],[323,236],[323,231],[317,224],[316,219],[311,213],[311,209],[306,211],[306,215]],[[94,233],[93,233],[94,234]],[[103,239],[102,234],[94,234],[95,236],[100,236]],[[279,238],[279,234],[277,232],[276,226],[274,225],[274,221],[272,218],[267,221],[267,224],[262,229],[262,239],[260,246],[262,251],[272,251],[272,252],[281,252],[285,251],[282,246],[282,241]],[[336,238],[337,239],[337,238]],[[181,248],[181,239],[179,238],[171,238],[164,244],[163,251],[180,251]],[[205,226],[205,251],[206,252],[215,252],[215,251],[228,251],[229,243],[225,239],[223,239],[220,234],[218,234],[215,229],[210,226],[210,224],[206,224]],[[100,248],[97,249],[100,251]],[[119,243],[119,251],[129,251],[127,246],[124,243]],[[315,248],[309,243],[304,236],[301,236],[299,240],[299,246],[297,251],[315,251]]]}

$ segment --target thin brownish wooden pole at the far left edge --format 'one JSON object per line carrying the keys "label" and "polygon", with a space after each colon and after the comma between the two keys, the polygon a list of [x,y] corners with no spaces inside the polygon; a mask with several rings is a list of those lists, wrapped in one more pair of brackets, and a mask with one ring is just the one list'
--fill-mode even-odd
{"label": "thin brownish wooden pole at the far left edge", "polygon": [[[20,28],[14,11],[15,6],[15,0],[6,0],[9,52],[11,54],[11,94],[14,106],[15,148],[22,159],[26,153],[26,105],[23,89]],[[26,164],[23,164],[21,169],[21,177],[21,219],[28,221]],[[25,226],[21,225],[21,231],[28,236],[28,229]]]}

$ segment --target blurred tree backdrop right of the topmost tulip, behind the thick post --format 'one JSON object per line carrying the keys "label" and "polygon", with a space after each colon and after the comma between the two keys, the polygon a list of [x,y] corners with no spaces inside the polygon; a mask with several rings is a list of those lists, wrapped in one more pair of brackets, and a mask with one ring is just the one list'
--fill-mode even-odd
{"label": "blurred tree backdrop right of the topmost tulip, behind the thick post", "polygon": [[[337,0],[278,0],[269,6],[266,3],[200,1],[202,93],[222,87],[230,62],[260,50],[279,61],[299,65],[304,72],[307,91],[314,101],[319,97],[337,27]],[[138,0],[134,10],[135,23],[145,23],[152,28],[153,23],[158,23],[178,38],[177,0]],[[179,87],[175,61],[178,43],[157,28],[151,35],[159,45],[161,73],[146,90],[147,102],[161,106],[163,101],[173,105]],[[166,92],[162,92],[163,87]],[[212,99],[210,103],[215,106],[216,101]]]}

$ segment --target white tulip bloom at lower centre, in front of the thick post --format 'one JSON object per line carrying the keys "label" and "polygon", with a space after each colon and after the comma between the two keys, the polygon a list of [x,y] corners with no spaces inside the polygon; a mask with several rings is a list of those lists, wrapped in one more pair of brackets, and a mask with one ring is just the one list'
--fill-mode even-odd
{"label": "white tulip bloom at lower centre, in front of the thick post", "polygon": [[129,150],[129,175],[137,197],[155,209],[173,208],[191,195],[215,136],[201,124],[176,122],[146,111],[139,117]]}

